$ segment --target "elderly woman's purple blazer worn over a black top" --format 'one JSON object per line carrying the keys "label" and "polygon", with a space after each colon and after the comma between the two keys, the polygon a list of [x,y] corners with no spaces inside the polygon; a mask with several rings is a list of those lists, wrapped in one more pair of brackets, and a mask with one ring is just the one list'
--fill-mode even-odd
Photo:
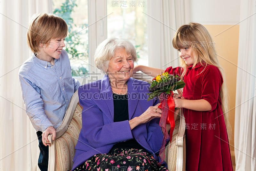
{"label": "elderly woman's purple blazer worn over a black top", "polygon": [[[130,78],[128,80],[128,111],[129,120],[140,116],[149,106],[159,103],[148,99],[147,82]],[[79,103],[83,106],[82,129],[76,144],[72,170],[90,157],[99,153],[108,153],[114,144],[129,139],[136,141],[154,158],[162,145],[163,133],[159,126],[159,118],[131,130],[129,121],[114,122],[113,94],[105,75],[102,80],[84,84],[78,89]]]}

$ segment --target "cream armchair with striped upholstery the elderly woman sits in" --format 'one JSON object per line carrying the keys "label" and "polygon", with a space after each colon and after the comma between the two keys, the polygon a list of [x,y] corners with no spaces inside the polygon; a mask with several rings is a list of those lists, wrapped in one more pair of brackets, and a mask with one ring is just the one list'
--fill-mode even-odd
{"label": "cream armchair with striped upholstery the elderly woman sits in", "polygon": [[[146,79],[141,80],[150,82]],[[81,114],[82,108],[79,105],[76,91],[70,100],[60,127],[56,129],[55,140],[52,141],[52,134],[48,136],[51,143],[51,146],[49,146],[48,171],[67,171],[72,168],[75,146],[82,128]],[[172,140],[165,148],[165,161],[170,171],[185,171],[185,119],[182,110],[176,118]]]}

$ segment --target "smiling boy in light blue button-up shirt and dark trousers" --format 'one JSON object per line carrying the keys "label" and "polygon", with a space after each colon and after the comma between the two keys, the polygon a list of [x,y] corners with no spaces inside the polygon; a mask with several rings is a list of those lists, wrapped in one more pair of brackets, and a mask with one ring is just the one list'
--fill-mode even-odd
{"label": "smiling boy in light blue button-up shirt and dark trousers", "polygon": [[40,154],[40,170],[48,168],[47,136],[57,129],[74,92],[80,83],[72,78],[65,47],[66,22],[53,14],[33,15],[27,32],[28,46],[33,52],[19,70],[20,86],[26,113],[36,130]]}

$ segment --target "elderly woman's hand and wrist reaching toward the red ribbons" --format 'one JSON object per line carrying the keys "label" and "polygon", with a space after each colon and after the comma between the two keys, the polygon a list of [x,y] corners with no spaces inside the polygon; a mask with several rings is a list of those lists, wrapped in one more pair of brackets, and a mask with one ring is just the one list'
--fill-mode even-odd
{"label": "elderly woman's hand and wrist reaching toward the red ribbons", "polygon": [[161,109],[158,108],[160,103],[155,106],[150,106],[144,113],[142,113],[139,117],[135,117],[129,120],[131,130],[140,124],[145,124],[151,121],[154,118],[161,117]]}

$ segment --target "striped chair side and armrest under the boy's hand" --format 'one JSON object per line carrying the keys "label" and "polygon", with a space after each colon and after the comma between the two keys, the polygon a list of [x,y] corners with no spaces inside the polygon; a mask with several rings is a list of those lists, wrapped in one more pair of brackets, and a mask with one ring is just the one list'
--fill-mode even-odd
{"label": "striped chair side and armrest under the boy's hand", "polygon": [[[75,134],[73,134],[74,132],[72,131],[77,129],[79,129],[79,131],[81,130],[80,114],[82,111],[78,102],[79,98],[78,93],[76,91],[74,95],[71,97],[68,109],[62,120],[62,123],[56,129],[55,140],[52,140],[52,134],[49,134],[47,137],[51,144],[51,146],[49,146],[48,171],[65,171],[70,170],[72,168],[72,158],[74,157],[75,153],[74,146],[76,145],[77,138],[79,135],[78,131],[76,131]],[[74,140],[74,137],[77,138],[75,138]]]}

